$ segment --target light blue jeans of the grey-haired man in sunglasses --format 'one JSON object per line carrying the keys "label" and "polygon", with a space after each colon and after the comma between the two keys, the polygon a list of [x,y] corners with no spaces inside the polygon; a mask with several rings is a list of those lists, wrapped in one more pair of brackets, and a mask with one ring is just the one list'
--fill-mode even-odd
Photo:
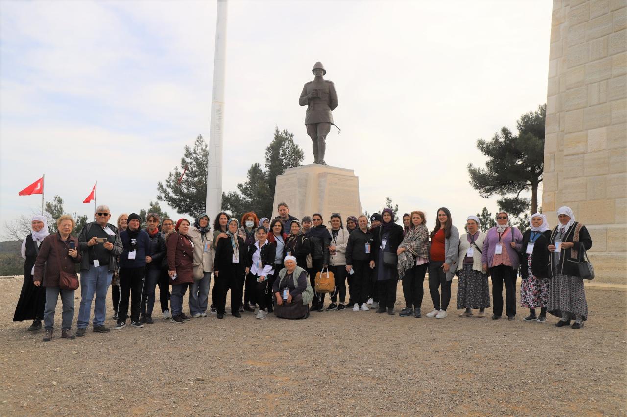
{"label": "light blue jeans of the grey-haired man in sunglasses", "polygon": [[108,265],[95,267],[91,265],[88,270],[82,270],[80,274],[80,308],[78,309],[78,322],[76,327],[84,329],[89,324],[89,316],[92,312],[92,300],[95,294],[96,302],[93,307],[92,326],[105,324],[107,314],[107,291],[111,285],[113,272],[109,272]]}

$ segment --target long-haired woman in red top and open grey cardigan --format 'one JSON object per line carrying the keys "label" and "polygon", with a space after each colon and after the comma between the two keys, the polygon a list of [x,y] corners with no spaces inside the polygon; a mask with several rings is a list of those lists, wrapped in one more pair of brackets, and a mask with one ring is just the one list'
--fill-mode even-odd
{"label": "long-haired woman in red top and open grey cardigan", "polygon": [[[451,212],[446,207],[438,209],[438,219],[431,232],[429,249],[429,294],[433,311],[427,317],[443,319],[451,301],[451,282],[457,269],[457,254],[460,247],[460,232],[453,226]],[[438,289],[442,287],[442,296]]]}

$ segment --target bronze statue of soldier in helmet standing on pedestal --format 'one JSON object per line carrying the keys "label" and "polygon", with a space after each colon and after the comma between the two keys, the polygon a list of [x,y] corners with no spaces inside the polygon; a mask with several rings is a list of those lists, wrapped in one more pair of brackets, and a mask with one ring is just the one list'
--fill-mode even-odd
{"label": "bronze statue of soldier in helmet standing on pedestal", "polygon": [[327,71],[320,61],[315,63],[312,73],[315,75],[314,81],[305,83],[298,104],[307,105],[305,126],[307,126],[307,135],[312,138],[314,163],[327,165],[324,162],[324,152],[327,135],[331,125],[334,124],[331,111],[337,107],[337,94],[335,94],[333,81],[322,78]]}

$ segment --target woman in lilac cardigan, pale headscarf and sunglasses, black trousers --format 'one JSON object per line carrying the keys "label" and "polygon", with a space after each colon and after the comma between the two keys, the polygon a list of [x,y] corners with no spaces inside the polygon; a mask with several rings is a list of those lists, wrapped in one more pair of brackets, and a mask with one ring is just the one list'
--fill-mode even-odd
{"label": "woman in lilac cardigan, pale headscarf and sunglasses, black trousers", "polygon": [[516,316],[516,277],[522,247],[522,235],[517,227],[510,227],[506,212],[497,213],[497,225],[488,230],[483,241],[481,263],[483,272],[492,277],[492,319],[503,314],[503,283],[505,283],[505,313],[508,320]]}

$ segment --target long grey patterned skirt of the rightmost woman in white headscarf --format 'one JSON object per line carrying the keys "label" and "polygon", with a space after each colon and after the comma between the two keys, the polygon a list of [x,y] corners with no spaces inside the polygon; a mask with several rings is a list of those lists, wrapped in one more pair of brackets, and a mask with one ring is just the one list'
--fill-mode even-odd
{"label": "long grey patterned skirt of the rightmost woman in white headscarf", "polygon": [[584,280],[574,275],[556,274],[549,286],[549,306],[553,316],[564,319],[587,320],[587,301]]}

